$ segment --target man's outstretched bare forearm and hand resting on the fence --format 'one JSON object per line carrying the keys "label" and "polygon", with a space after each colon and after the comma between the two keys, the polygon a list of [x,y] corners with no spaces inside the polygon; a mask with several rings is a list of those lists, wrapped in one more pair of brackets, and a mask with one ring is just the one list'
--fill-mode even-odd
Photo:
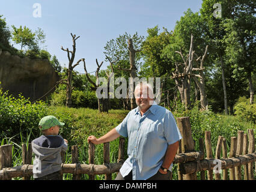
{"label": "man's outstretched bare forearm and hand resting on the fence", "polygon": [[108,133],[106,133],[104,136],[100,137],[99,139],[97,139],[95,136],[89,136],[87,141],[88,143],[91,142],[97,145],[100,143],[111,142],[112,140],[115,140],[118,137],[120,137],[120,134],[118,134],[117,130],[113,128],[112,130],[110,130]]}

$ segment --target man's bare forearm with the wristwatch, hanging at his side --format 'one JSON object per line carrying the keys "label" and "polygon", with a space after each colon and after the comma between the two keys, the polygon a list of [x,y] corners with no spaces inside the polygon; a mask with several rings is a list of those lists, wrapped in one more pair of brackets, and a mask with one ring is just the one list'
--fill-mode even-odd
{"label": "man's bare forearm with the wristwatch, hanging at his side", "polygon": [[[171,145],[168,145],[168,148],[166,149],[165,153],[165,159],[163,160],[162,167],[169,169],[169,166],[171,166],[172,161],[174,160],[174,157],[176,155],[178,149],[178,141],[175,143],[172,143]],[[163,172],[163,170],[159,169],[160,173],[165,174],[166,172]]]}

